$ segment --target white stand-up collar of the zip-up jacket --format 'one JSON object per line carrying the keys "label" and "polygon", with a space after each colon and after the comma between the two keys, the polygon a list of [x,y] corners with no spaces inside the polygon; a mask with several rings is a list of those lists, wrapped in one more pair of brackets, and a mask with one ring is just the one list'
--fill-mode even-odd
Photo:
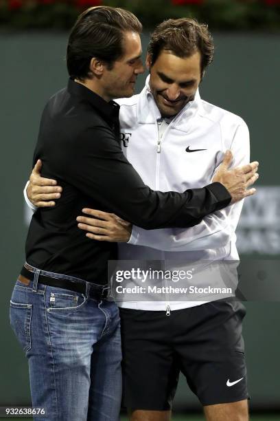
{"label": "white stand-up collar of the zip-up jacket", "polygon": [[[200,107],[200,102],[200,94],[197,90],[194,100],[189,101],[180,113],[174,117],[173,121],[176,120],[176,128],[180,129],[181,125],[185,125],[186,118],[191,118],[196,114],[198,108]],[[139,94],[139,100],[137,103],[137,121],[140,124],[154,124],[155,120],[159,120],[160,118],[161,114],[150,91],[149,75],[145,80],[145,87]]]}

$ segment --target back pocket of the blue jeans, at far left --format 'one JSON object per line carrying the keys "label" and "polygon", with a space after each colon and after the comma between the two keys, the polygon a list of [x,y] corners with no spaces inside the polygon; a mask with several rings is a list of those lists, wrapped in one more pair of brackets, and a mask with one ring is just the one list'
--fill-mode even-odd
{"label": "back pocket of the blue jeans, at far left", "polygon": [[32,305],[10,301],[10,323],[12,330],[26,353],[31,349]]}

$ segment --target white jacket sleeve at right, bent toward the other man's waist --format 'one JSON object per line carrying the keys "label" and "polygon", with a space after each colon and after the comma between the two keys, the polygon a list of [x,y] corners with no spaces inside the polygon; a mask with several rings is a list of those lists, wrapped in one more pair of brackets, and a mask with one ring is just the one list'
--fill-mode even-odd
{"label": "white jacket sleeve at right, bent toward the other man's waist", "polygon": [[[248,164],[250,160],[249,132],[245,122],[237,127],[229,148],[233,153],[232,166]],[[218,167],[213,171],[213,175]],[[128,244],[147,246],[164,251],[205,250],[226,246],[235,232],[243,200],[212,213],[191,228],[144,230],[133,226]]]}

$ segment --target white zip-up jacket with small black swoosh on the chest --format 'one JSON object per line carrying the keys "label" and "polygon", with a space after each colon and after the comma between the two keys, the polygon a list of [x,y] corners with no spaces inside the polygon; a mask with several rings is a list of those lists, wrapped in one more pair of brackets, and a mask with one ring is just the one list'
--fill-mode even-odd
{"label": "white zip-up jacket with small black swoosh on the chest", "polygon": [[[183,192],[209,183],[226,149],[233,152],[232,166],[249,162],[249,133],[242,118],[209,104],[196,92],[170,122],[163,137],[161,118],[150,93],[148,77],[141,94],[118,100],[123,151],[145,184],[159,191]],[[200,151],[187,152],[189,148]],[[192,228],[143,230],[133,226],[128,244],[119,244],[121,260],[174,261],[168,269],[182,268],[182,261],[238,260],[235,228],[242,202],[205,217]],[[178,268],[177,268],[178,269]],[[206,272],[207,275],[207,272]],[[141,281],[139,282],[141,284]],[[177,310],[211,301],[121,302],[120,307],[139,310]]]}

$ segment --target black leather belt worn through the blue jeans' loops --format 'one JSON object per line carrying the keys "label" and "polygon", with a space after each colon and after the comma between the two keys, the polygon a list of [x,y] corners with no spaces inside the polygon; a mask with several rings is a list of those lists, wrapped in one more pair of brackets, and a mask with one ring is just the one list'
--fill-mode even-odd
{"label": "black leather belt worn through the blue jeans' loops", "polygon": [[[29,286],[30,282],[34,280],[34,272],[32,272],[32,266],[27,265],[21,269],[21,274],[19,275],[19,281],[24,283],[24,285]],[[43,285],[53,286],[56,288],[62,288],[64,290],[71,290],[75,292],[80,292],[81,294],[86,294],[86,281],[84,282],[75,282],[69,281],[69,279],[63,278],[53,278],[46,276],[44,274],[38,275],[38,283],[43,283]],[[106,300],[108,296],[108,288],[104,285],[94,285],[88,283],[89,288],[87,294],[90,298],[95,300]]]}

